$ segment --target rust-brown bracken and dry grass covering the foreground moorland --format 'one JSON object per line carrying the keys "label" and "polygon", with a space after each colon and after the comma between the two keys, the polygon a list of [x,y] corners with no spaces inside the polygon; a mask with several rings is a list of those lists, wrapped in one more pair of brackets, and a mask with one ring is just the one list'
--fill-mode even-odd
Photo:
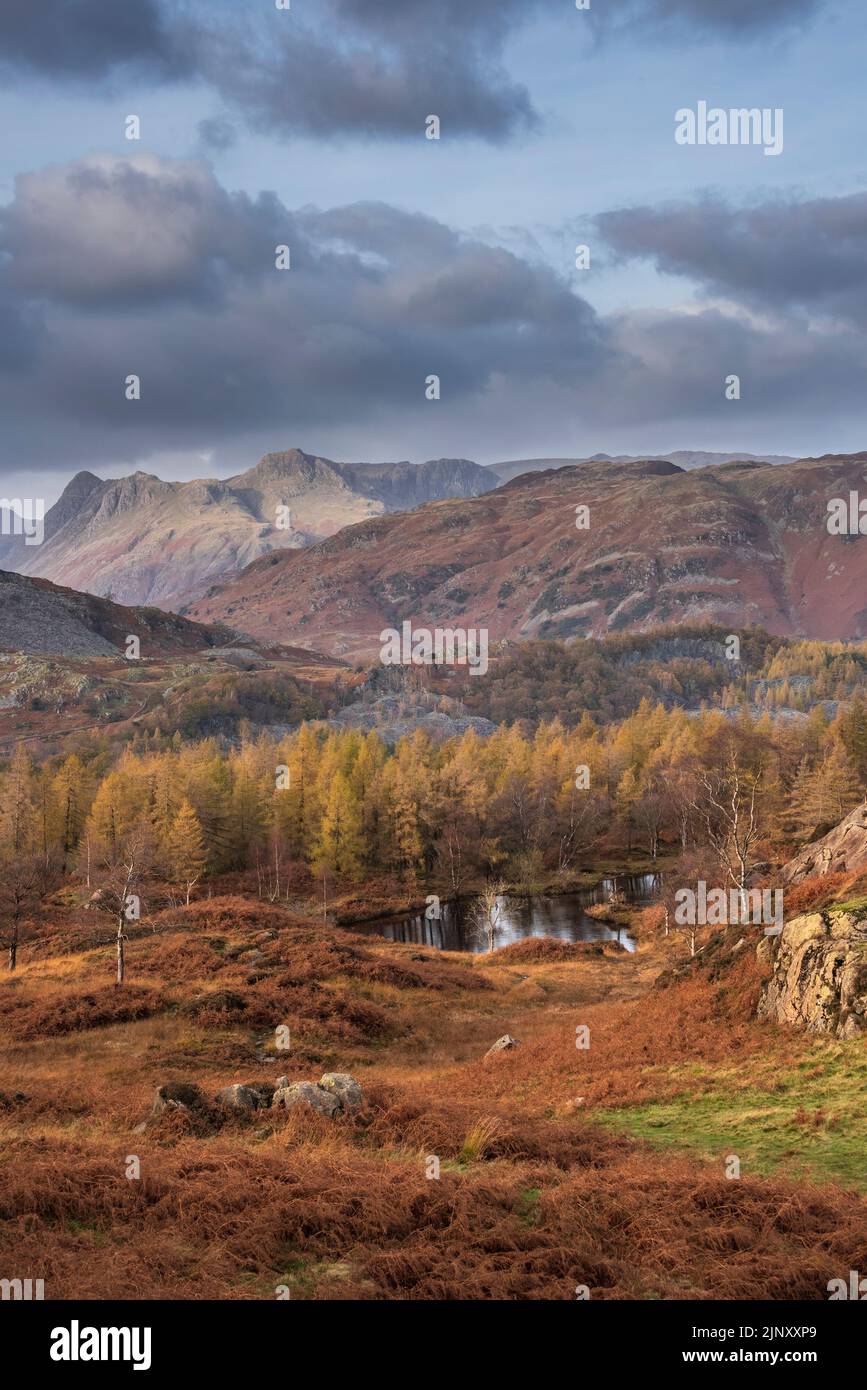
{"label": "rust-brown bracken and dry grass covering the foreground moorland", "polygon": [[[49,1297],[824,1298],[867,1265],[850,1186],[785,1155],[729,1182],[686,1130],[682,1151],[656,1148],[618,1119],[717,1086],[752,1104],[786,1070],[852,1065],[860,1044],[820,1055],[754,1020],[746,954],[652,990],[671,944],[420,960],[235,899],[156,927],[122,991],[101,948],[40,955],[0,987],[4,1091],[25,1095],[0,1105],[0,1264],[14,1248]],[[504,1031],[521,1045],[485,1059]],[[213,1097],[325,1069],[361,1081],[358,1116],[207,1106],[135,1133],[160,1083]],[[816,1109],[792,1095],[793,1143],[831,1141]]]}

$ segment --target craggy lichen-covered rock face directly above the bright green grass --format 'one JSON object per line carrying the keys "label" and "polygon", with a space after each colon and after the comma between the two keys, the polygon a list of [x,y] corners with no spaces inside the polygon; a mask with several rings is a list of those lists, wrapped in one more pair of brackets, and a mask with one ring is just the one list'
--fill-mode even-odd
{"label": "craggy lichen-covered rock face directly above the bright green grass", "polygon": [[838,1038],[867,1033],[867,903],[793,917],[774,940],[759,1015]]}

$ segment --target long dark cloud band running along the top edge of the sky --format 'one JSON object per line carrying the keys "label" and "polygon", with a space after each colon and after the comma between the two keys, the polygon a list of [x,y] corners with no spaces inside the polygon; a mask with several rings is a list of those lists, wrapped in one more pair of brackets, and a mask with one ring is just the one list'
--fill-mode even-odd
{"label": "long dark cloud band running along the top edge of the sky", "polygon": [[[254,129],[278,136],[420,139],[427,115],[447,138],[502,142],[539,124],[504,44],[535,18],[572,39],[638,32],[691,42],[743,40],[806,24],[825,0],[318,0],[315,10],[213,0],[3,0],[0,70],[107,82],[136,70],[154,82],[211,88]],[[224,147],[225,122],[203,122]]]}

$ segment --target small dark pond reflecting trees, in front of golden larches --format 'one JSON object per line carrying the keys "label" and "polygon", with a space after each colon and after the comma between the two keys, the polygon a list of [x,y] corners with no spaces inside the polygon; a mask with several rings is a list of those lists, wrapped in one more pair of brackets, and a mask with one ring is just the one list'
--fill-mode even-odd
{"label": "small dark pond reflecting trees, in front of golden larches", "polygon": [[[559,937],[561,941],[620,941],[627,951],[635,951],[635,941],[628,931],[588,917],[585,908],[609,902],[616,891],[618,901],[642,906],[656,895],[659,877],[654,873],[618,874],[617,878],[603,878],[593,888],[584,888],[581,892],[563,892],[550,898],[499,898],[500,917],[495,944],[507,947],[524,937]],[[424,912],[420,912],[411,917],[356,923],[352,930],[438,951],[481,952],[488,949],[488,942],[474,931],[474,898],[464,898],[460,902],[443,902],[439,922],[428,922]]]}

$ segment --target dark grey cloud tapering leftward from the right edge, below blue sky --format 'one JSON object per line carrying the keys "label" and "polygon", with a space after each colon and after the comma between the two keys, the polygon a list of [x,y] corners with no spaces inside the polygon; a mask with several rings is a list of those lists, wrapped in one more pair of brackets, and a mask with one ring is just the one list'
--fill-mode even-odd
{"label": "dark grey cloud tapering leftward from the right edge, below blue sky", "polygon": [[596,225],[617,257],[650,260],[713,295],[827,314],[867,328],[867,193],[732,207],[628,207]]}

